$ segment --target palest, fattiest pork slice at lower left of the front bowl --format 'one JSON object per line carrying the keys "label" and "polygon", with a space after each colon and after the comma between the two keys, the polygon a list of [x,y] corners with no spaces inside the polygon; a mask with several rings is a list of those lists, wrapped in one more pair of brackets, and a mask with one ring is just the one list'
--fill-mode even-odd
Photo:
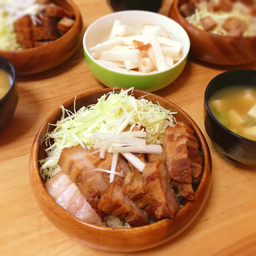
{"label": "palest, fattiest pork slice at lower left of the front bowl", "polygon": [[47,181],[45,188],[50,197],[71,215],[95,225],[106,225],[86,201],[78,187],[63,171],[59,171],[59,173]]}

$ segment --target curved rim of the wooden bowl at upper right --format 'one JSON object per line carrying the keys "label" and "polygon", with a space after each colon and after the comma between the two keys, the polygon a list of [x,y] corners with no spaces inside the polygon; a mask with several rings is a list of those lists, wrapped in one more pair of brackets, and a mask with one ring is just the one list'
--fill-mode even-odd
{"label": "curved rim of the wooden bowl at upper right", "polygon": [[[202,29],[199,29],[198,27],[194,26],[193,24],[189,23],[182,15],[181,15],[181,12],[179,11],[179,7],[178,7],[178,4],[179,4],[179,0],[174,0],[173,1],[173,4],[171,5],[170,7],[170,10],[172,8],[174,8],[176,14],[178,15],[178,18],[182,19],[183,22],[185,22],[186,24],[186,27],[191,27],[193,29],[195,29],[198,33],[203,33],[205,35],[208,35],[210,37],[215,37],[215,38],[229,38],[229,39],[236,39],[236,40],[251,40],[251,39],[256,39],[256,36],[252,36],[252,37],[232,37],[230,35],[218,35],[218,34],[214,34],[214,33],[210,33],[210,32],[207,32],[206,30],[202,30]],[[169,11],[170,13],[170,11]],[[171,17],[170,17],[171,18]],[[193,32],[194,33],[194,32]]]}

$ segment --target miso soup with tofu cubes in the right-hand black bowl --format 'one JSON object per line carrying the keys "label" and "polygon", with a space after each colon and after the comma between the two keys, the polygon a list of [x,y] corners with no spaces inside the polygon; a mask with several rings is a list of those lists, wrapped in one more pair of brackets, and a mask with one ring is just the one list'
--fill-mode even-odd
{"label": "miso soup with tofu cubes in the right-hand black bowl", "polygon": [[228,86],[209,100],[214,116],[227,129],[256,141],[256,86]]}

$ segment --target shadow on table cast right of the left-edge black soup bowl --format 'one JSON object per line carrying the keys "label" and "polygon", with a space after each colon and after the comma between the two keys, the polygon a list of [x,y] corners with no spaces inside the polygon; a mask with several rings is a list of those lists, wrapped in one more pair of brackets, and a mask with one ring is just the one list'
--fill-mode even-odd
{"label": "shadow on table cast right of the left-edge black soup bowl", "polygon": [[[38,117],[36,113],[38,113],[40,109],[40,104],[39,101],[35,99],[33,93],[22,87],[18,87],[18,91],[21,97],[19,97],[18,106],[13,118],[0,133],[0,146],[7,145],[15,140],[17,141],[22,135],[28,133]],[[29,109],[26,114],[24,112],[19,114],[19,110],[22,108],[21,102],[25,100],[22,95],[26,95],[26,98],[33,99],[33,102],[28,104],[29,107],[26,107],[26,109]],[[31,118],[31,116],[34,118]]]}

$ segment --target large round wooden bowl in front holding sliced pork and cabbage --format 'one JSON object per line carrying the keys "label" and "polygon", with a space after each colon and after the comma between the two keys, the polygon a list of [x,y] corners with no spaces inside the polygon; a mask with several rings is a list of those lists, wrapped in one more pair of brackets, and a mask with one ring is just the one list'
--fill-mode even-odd
{"label": "large round wooden bowl in front holding sliced pork and cabbage", "polygon": [[[98,98],[110,91],[112,89],[102,89],[78,95],[76,98],[77,110],[82,106],[97,103]],[[133,93],[136,98],[148,94],[140,90],[134,90]],[[38,171],[38,159],[46,157],[44,151],[45,143],[40,145],[41,139],[47,131],[48,123],[56,123],[60,120],[62,116],[61,108],[58,107],[47,118],[35,137],[31,149],[29,167],[30,182],[35,198],[43,213],[59,230],[84,242],[88,246],[107,251],[132,252],[160,245],[177,236],[195,219],[209,194],[212,176],[211,155],[203,133],[191,117],[174,103],[152,93],[149,93],[145,98],[151,100],[153,103],[157,103],[158,101],[166,109],[177,111],[178,114],[175,115],[176,119],[187,123],[195,131],[195,136],[203,152],[204,171],[201,182],[195,192],[195,200],[193,202],[187,202],[175,215],[174,219],[163,219],[142,227],[114,229],[88,224],[73,217],[50,198]],[[63,106],[71,111],[74,110],[74,98],[64,103]]]}

